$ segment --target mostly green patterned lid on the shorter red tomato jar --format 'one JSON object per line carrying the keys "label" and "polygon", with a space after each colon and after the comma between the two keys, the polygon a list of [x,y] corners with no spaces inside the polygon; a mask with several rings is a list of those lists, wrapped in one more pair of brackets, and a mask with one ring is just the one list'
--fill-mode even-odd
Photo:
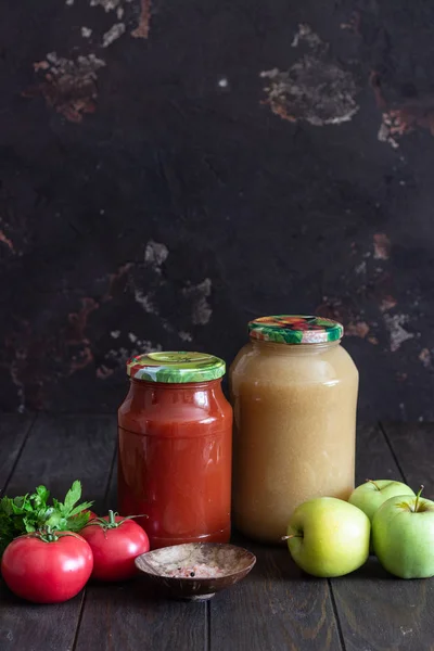
{"label": "mostly green patterned lid on the shorter red tomato jar", "polygon": [[226,365],[206,353],[148,353],[127,362],[127,373],[146,382],[206,382],[225,375]]}

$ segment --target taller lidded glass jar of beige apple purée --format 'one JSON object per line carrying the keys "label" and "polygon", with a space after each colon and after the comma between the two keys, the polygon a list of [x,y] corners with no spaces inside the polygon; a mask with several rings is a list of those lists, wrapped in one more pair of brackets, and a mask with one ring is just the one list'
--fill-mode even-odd
{"label": "taller lidded glass jar of beige apple pur\u00e9e", "polygon": [[261,317],[248,333],[230,369],[233,522],[279,542],[299,503],[354,488],[358,371],[335,321]]}

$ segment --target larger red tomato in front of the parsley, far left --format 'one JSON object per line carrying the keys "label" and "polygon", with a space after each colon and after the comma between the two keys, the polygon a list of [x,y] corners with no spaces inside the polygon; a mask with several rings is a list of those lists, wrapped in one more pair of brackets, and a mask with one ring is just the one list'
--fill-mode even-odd
{"label": "larger red tomato in front of the parsley, far left", "polygon": [[8,587],[35,603],[75,597],[93,567],[92,550],[81,536],[59,532],[46,541],[38,534],[15,538],[4,550],[1,574]]}

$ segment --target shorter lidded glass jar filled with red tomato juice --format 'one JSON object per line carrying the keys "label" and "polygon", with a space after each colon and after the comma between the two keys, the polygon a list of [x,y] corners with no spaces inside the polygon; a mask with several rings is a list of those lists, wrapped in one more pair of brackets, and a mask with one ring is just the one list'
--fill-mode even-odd
{"label": "shorter lidded glass jar filled with red tomato juice", "polygon": [[151,548],[228,542],[232,409],[225,362],[203,353],[149,353],[127,365],[118,410],[118,509]]}

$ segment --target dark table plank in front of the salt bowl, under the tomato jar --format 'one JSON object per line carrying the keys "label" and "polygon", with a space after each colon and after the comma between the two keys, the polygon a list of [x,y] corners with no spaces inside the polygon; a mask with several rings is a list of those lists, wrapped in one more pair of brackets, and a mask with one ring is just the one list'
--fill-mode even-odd
{"label": "dark table plank in front of the salt bowl, under the tomato jar", "polygon": [[[116,508],[116,468],[106,508]],[[206,604],[162,599],[141,578],[119,585],[91,585],[75,651],[204,650]]]}

